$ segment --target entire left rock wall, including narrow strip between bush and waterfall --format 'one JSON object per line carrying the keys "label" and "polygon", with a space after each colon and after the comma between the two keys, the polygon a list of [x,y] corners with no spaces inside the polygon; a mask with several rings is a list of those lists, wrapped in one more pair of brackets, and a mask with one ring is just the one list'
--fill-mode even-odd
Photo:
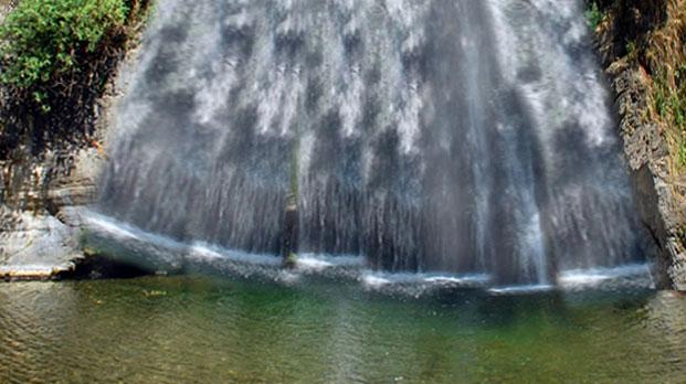
{"label": "entire left rock wall, including narrow strip between bush and waterfall", "polygon": [[[19,0],[0,0],[0,22]],[[84,88],[97,87],[99,98],[87,98],[88,127],[71,127],[85,137],[51,138],[36,147],[32,135],[12,143],[0,161],[0,278],[49,278],[73,267],[83,257],[78,207],[96,199],[98,177],[106,161],[104,142],[108,134],[109,111],[126,79],[115,76],[136,60],[144,30],[148,1],[129,1],[126,35],[110,42],[108,82],[103,89],[87,81]],[[124,42],[124,43],[123,43]],[[116,66],[116,67],[115,67]],[[102,92],[102,93],[101,93]],[[1,97],[4,89],[0,90]],[[94,122],[91,121],[91,117]],[[91,125],[94,124],[94,127]],[[65,127],[59,127],[60,129]],[[87,128],[87,129],[86,129]],[[33,132],[35,134],[35,132]],[[24,137],[29,136],[29,137]],[[40,140],[39,140],[40,141]]]}

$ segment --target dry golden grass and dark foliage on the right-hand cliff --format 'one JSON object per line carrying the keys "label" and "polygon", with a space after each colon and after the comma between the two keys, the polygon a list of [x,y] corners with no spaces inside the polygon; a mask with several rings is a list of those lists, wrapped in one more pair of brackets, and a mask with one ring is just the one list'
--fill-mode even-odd
{"label": "dry golden grass and dark foliage on the right-hand cliff", "polygon": [[640,110],[627,126],[650,127],[666,143],[644,142],[653,151],[646,156],[654,174],[671,189],[657,204],[668,237],[661,242],[672,244],[665,249],[676,262],[686,250],[686,0],[588,1],[591,13],[595,4],[604,14],[595,32],[605,65],[636,82],[629,86]]}

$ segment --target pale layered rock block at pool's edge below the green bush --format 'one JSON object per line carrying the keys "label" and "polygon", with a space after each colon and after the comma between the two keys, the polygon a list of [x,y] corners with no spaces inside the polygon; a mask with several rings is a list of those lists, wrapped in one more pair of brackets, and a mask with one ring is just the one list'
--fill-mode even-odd
{"label": "pale layered rock block at pool's edge below the green bush", "polygon": [[82,257],[75,207],[94,201],[104,162],[86,148],[0,163],[0,277],[49,278],[73,267]]}

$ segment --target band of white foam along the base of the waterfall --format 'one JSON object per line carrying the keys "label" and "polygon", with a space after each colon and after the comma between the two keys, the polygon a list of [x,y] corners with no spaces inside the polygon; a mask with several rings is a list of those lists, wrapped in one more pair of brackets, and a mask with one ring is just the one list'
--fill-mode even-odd
{"label": "band of white foam along the base of the waterfall", "polygon": [[324,277],[359,281],[366,289],[393,295],[419,297],[447,289],[482,289],[492,295],[524,295],[553,289],[652,288],[651,266],[636,264],[618,268],[592,268],[562,271],[557,286],[493,286],[488,274],[398,274],[373,271],[361,256],[303,254],[293,269],[283,269],[281,257],[251,254],[217,247],[207,243],[182,243],[151,234],[130,224],[82,211],[88,244],[108,256],[150,270],[170,273],[201,271],[229,274],[245,278],[266,278],[292,285],[303,277]]}

